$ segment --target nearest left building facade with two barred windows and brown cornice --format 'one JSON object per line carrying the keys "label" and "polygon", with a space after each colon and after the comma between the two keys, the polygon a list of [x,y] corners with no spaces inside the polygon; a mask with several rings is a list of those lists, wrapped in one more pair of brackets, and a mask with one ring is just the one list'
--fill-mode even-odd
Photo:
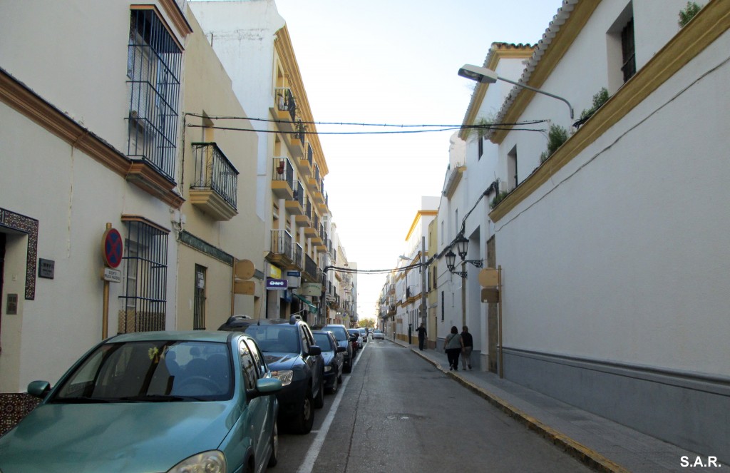
{"label": "nearest left building facade with two barred windows and brown cornice", "polygon": [[191,28],[174,1],[3,2],[0,18],[0,393],[12,396],[118,331],[174,327]]}

